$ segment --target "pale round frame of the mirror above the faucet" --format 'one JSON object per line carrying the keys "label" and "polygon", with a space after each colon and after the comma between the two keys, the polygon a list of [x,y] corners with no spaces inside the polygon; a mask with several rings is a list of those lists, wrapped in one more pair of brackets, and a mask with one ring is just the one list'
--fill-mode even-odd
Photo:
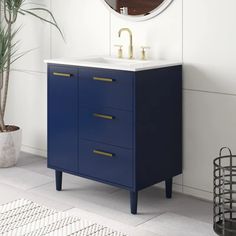
{"label": "pale round frame of the mirror above the faucet", "polygon": [[130,21],[145,21],[145,20],[149,20],[157,15],[159,15],[160,13],[162,13],[174,0],[165,0],[162,4],[160,4],[156,9],[154,9],[153,11],[150,12],[150,14],[148,15],[123,15],[118,13],[117,11],[113,10],[111,8],[111,6],[105,1],[105,0],[101,0],[102,3],[105,5],[105,7],[112,12],[114,15],[123,18],[124,20],[130,20]]}

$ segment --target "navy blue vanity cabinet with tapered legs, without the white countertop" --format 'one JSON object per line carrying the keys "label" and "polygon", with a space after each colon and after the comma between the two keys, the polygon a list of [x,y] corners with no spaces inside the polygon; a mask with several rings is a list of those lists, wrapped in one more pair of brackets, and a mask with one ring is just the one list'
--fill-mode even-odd
{"label": "navy blue vanity cabinet with tapered legs, without the white countertop", "polygon": [[[69,74],[69,75],[68,75]],[[65,77],[65,75],[67,75]],[[143,71],[48,66],[48,166],[130,192],[182,173],[182,66]]]}

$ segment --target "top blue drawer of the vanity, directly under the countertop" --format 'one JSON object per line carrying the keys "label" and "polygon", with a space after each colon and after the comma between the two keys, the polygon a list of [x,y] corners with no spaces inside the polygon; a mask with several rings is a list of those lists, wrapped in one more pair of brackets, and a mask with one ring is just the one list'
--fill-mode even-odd
{"label": "top blue drawer of the vanity, directly under the countertop", "polygon": [[80,104],[132,110],[133,76],[129,71],[80,68]]}

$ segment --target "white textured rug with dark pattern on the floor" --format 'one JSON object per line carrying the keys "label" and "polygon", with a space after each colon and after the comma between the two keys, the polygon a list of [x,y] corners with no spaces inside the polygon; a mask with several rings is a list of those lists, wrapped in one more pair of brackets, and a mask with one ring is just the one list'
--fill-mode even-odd
{"label": "white textured rug with dark pattern on the floor", "polygon": [[19,199],[0,206],[1,236],[127,236],[106,226]]}

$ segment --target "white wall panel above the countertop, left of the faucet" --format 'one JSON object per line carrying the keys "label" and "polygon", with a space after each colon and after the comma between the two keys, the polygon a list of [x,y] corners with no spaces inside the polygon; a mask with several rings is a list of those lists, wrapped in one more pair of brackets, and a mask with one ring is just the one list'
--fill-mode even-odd
{"label": "white wall panel above the countertop, left of the faucet", "polygon": [[52,57],[83,57],[108,54],[110,14],[99,0],[52,0],[52,11],[66,43],[52,30]]}

